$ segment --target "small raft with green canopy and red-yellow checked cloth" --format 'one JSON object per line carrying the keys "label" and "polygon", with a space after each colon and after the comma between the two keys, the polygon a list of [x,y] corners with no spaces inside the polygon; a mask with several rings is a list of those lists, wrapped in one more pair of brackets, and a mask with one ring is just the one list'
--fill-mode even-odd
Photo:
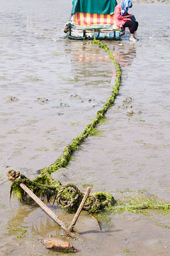
{"label": "small raft with green canopy and red-yellow checked cloth", "polygon": [[121,40],[123,29],[115,25],[116,0],[73,0],[72,15],[64,26],[69,39]]}

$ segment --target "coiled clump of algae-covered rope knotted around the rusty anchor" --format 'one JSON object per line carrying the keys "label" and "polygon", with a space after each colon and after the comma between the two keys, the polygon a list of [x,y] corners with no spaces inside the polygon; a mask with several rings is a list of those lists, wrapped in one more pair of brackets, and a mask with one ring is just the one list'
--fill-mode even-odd
{"label": "coiled clump of algae-covered rope knotted around the rusty anchor", "polygon": [[[24,183],[33,193],[39,197],[47,198],[47,201],[53,200],[53,203],[62,206],[67,211],[76,211],[81,203],[84,193],[82,193],[76,185],[68,183],[62,186],[57,181],[57,186],[48,186],[45,184],[36,185],[35,181],[30,181],[29,178],[23,176],[14,170],[8,171],[8,180],[13,181],[11,185],[11,193],[17,193],[21,201],[27,201],[26,193],[21,189],[21,183]],[[94,213],[114,203],[114,198],[110,193],[96,192],[91,194],[84,204],[84,210],[89,213]]]}

